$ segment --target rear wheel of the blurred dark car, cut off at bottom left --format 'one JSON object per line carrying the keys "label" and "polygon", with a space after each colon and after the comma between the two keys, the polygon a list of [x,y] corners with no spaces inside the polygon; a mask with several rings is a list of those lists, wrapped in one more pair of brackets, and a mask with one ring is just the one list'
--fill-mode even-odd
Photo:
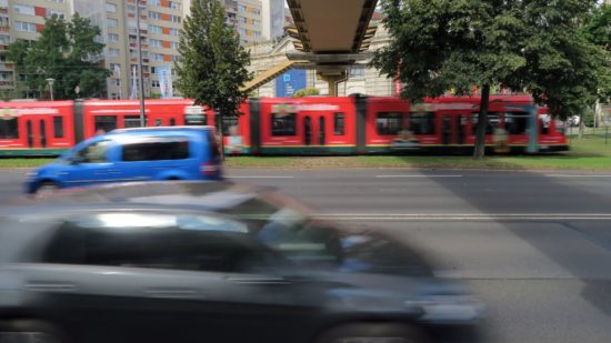
{"label": "rear wheel of the blurred dark car, cut off at bottom left", "polygon": [[60,331],[44,322],[0,322],[0,343],[67,343]]}

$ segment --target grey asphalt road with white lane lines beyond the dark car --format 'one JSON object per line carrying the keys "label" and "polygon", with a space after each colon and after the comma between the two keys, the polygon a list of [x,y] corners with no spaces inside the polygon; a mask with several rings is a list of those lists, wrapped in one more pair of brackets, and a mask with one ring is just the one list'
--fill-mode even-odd
{"label": "grey asphalt road with white lane lines beyond the dark car", "polygon": [[[0,171],[0,200],[24,171]],[[610,342],[611,172],[232,170],[397,234],[489,305],[490,342]]]}

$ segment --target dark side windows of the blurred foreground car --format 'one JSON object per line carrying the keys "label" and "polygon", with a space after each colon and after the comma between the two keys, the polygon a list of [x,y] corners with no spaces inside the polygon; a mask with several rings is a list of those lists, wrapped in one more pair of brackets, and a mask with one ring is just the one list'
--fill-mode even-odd
{"label": "dark side windows of the blurred foreground car", "polygon": [[183,271],[240,272],[269,259],[246,224],[158,213],[96,213],[66,222],[44,261]]}

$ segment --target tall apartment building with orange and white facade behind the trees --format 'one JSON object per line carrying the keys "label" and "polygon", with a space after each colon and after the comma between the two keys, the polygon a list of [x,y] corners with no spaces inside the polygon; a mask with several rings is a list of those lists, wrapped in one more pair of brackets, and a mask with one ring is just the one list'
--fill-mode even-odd
{"label": "tall apartment building with orange and white facade behind the trees", "polygon": [[[107,80],[108,98],[137,97],[140,73],[144,95],[158,97],[162,85],[159,70],[173,65],[178,59],[179,31],[192,1],[196,0],[0,0],[0,51],[17,39],[36,40],[46,18],[58,14],[69,19],[78,12],[100,28],[98,41],[106,48],[94,58],[112,72]],[[261,0],[219,1],[242,44],[266,39]],[[286,17],[286,12],[282,13]],[[142,70],[138,65],[138,32]],[[171,70],[176,77],[173,68]],[[0,58],[0,92],[14,89],[16,77],[12,63]],[[173,90],[172,95],[180,94]]]}

